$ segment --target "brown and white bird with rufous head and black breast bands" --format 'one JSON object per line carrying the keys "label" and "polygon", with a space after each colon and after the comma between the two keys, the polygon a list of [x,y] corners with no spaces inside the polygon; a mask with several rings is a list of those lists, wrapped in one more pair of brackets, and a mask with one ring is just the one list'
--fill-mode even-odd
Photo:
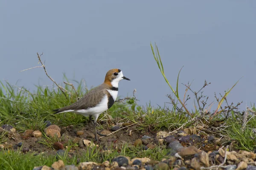
{"label": "brown and white bird with rufous head and black breast bands", "polygon": [[83,116],[93,116],[93,128],[95,132],[95,140],[98,142],[98,136],[104,136],[97,132],[96,121],[99,115],[107,111],[114,104],[118,94],[118,83],[120,80],[126,79],[122,71],[118,68],[111,69],[107,72],[104,82],[91,89],[87,92],[81,99],[77,100],[75,103],[66,106],[64,108],[58,108],[53,110],[55,113],[65,113],[72,112],[78,113]]}

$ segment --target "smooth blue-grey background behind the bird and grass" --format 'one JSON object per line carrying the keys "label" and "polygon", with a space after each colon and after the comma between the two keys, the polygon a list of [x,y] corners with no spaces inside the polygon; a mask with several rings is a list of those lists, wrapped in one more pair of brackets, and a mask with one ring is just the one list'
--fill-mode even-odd
{"label": "smooth blue-grey background behind the bird and grass", "polygon": [[[52,85],[38,66],[44,52],[47,71],[58,83],[85,79],[89,88],[111,68],[131,81],[119,83],[119,96],[137,89],[140,105],[163,106],[171,90],[151,53],[156,42],[166,77],[175,87],[192,82],[209,103],[242,77],[229,102],[256,102],[256,1],[8,1],[0,2],[0,79],[24,86]],[[71,81],[72,82],[72,81]],[[180,84],[180,95],[184,87]],[[170,106],[166,104],[166,106]],[[193,101],[188,103],[193,108]]]}

